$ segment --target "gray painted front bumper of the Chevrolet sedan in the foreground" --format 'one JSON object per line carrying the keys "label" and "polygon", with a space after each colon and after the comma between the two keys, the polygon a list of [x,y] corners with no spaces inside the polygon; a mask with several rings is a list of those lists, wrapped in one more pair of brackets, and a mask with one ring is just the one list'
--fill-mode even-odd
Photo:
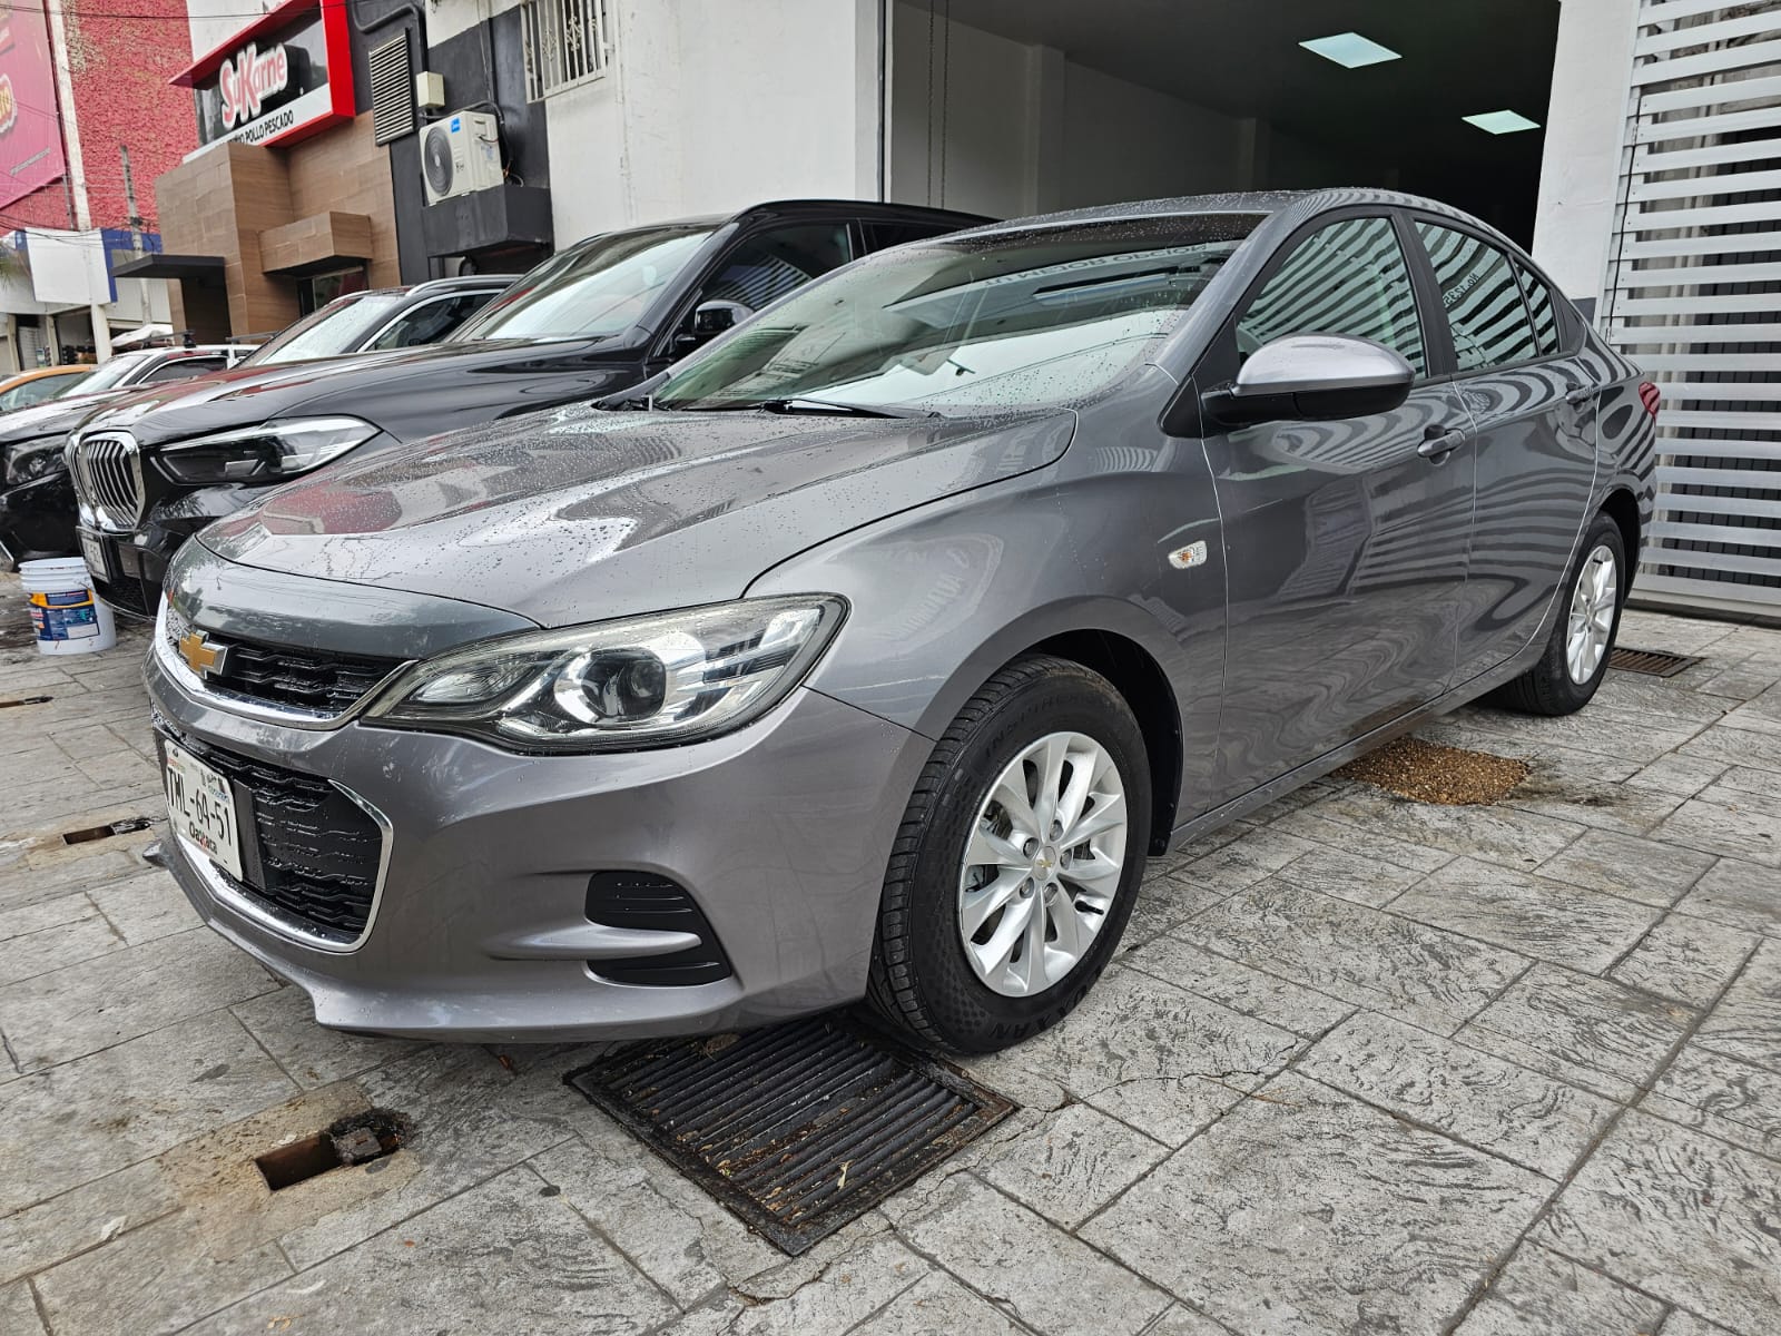
{"label": "gray painted front bumper of the Chevrolet sedan in the foreground", "polygon": [[[178,732],[331,778],[386,821],[372,919],[349,951],[297,941],[230,896],[201,855],[169,866],[210,926],[301,985],[328,1026],[483,1042],[730,1030],[858,999],[885,866],[926,739],[816,691],[728,737],[659,752],[520,757],[349,723],[305,730],[224,713],[151,656]],[[728,978],[648,987],[590,967],[590,878],[671,878]]]}

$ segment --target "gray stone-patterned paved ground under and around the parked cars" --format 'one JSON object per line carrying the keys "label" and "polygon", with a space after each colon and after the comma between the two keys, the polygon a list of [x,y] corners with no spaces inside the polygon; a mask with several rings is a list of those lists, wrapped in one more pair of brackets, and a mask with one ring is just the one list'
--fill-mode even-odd
{"label": "gray stone-patterned paved ground under and around the parked cars", "polygon": [[[798,1261],[566,1090],[586,1049],[319,1030],[151,835],[135,656],[0,586],[0,1331],[1781,1331],[1781,632],[1573,720],[1494,809],[1323,782],[1161,862],[1118,964],[976,1074],[1022,1110]],[[272,1199],[385,1104],[422,1142]]]}

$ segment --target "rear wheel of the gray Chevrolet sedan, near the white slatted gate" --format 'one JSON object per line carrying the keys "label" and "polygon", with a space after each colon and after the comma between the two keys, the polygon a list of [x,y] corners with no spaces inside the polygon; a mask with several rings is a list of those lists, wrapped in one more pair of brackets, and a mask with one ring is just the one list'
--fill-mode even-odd
{"label": "rear wheel of the gray Chevrolet sedan, near the white slatted gate", "polygon": [[1573,714],[1583,709],[1608,672],[1626,584],[1621,525],[1608,515],[1598,515],[1583,534],[1546,652],[1533,668],[1498,688],[1491,704],[1525,714]]}

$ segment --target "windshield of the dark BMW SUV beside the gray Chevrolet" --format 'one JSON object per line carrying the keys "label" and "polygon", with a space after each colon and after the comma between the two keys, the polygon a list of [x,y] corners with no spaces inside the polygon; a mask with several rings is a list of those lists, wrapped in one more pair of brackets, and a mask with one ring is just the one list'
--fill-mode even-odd
{"label": "windshield of the dark BMW SUV beside the gray Chevrolet", "polygon": [[449,342],[598,338],[636,324],[716,228],[616,232],[545,260]]}

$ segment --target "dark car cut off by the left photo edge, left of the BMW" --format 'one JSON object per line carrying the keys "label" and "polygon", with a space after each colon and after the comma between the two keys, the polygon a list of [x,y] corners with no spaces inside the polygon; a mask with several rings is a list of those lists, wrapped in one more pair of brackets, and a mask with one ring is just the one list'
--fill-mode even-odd
{"label": "dark car cut off by the left photo edge, left of the BMW", "polygon": [[142,347],[94,367],[64,395],[0,415],[0,552],[11,559],[73,550],[75,495],[62,447],[80,420],[134,388],[191,381],[244,363],[251,347]]}

